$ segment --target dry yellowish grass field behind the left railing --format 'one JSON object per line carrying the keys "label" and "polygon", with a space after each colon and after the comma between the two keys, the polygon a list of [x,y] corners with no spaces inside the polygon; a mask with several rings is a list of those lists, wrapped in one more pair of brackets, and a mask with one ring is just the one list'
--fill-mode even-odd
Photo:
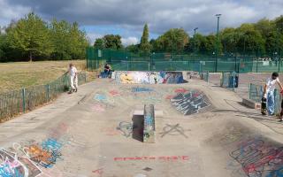
{"label": "dry yellowish grass field behind the left railing", "polygon": [[86,60],[36,61],[0,64],[0,93],[33,85],[47,84],[68,70],[69,63],[86,70]]}

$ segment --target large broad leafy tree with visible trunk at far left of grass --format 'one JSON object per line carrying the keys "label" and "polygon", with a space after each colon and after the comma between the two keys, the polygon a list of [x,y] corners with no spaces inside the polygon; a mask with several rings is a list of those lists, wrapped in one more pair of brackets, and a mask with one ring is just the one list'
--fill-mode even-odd
{"label": "large broad leafy tree with visible trunk at far left of grass", "polygon": [[8,31],[11,47],[23,50],[30,61],[34,56],[48,56],[53,50],[47,24],[33,12],[19,19],[16,27]]}

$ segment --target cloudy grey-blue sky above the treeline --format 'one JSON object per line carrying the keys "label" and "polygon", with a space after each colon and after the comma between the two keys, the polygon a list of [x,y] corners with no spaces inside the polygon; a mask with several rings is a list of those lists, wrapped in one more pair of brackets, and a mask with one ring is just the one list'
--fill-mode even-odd
{"label": "cloudy grey-blue sky above the treeline", "polygon": [[124,44],[140,41],[144,23],[151,38],[172,27],[189,35],[199,27],[214,33],[215,14],[221,13],[220,28],[244,22],[274,19],[283,14],[283,0],[0,0],[0,26],[34,11],[42,19],[77,21],[91,41],[106,34],[119,34]]}

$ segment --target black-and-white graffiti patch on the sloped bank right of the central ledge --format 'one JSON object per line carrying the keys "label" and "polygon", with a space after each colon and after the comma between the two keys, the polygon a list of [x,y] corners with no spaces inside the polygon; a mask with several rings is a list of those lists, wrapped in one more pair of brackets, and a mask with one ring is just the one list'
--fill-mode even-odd
{"label": "black-and-white graffiti patch on the sloped bank right of the central ledge", "polygon": [[197,113],[199,110],[208,107],[203,94],[199,92],[179,93],[171,99],[172,105],[184,115]]}

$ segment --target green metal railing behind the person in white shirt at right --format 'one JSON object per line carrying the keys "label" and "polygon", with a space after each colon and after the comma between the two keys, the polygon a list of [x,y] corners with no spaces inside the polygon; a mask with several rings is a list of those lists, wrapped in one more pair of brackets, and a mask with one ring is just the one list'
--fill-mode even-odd
{"label": "green metal railing behind the person in white shirt at right", "polygon": [[[261,103],[262,97],[264,94],[264,85],[256,85],[253,83],[249,84],[249,99],[255,101],[256,103]],[[281,100],[282,96],[279,93],[278,89],[274,90],[275,96],[275,113],[281,111]]]}

